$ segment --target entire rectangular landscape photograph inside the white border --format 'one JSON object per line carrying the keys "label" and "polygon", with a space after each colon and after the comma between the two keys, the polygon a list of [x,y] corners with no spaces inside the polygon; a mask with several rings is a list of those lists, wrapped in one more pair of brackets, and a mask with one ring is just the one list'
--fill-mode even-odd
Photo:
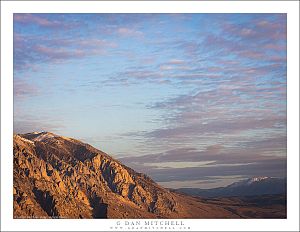
{"label": "entire rectangular landscape photograph inside the white border", "polygon": [[13,217],[287,218],[286,24],[14,13]]}

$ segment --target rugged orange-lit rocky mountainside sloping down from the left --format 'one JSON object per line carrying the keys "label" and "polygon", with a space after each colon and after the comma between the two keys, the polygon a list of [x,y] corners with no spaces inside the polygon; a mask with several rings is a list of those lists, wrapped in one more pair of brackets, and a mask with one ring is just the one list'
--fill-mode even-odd
{"label": "rugged orange-lit rocky mountainside sloping down from the left", "polygon": [[236,217],[170,192],[75,139],[14,135],[13,150],[15,218]]}

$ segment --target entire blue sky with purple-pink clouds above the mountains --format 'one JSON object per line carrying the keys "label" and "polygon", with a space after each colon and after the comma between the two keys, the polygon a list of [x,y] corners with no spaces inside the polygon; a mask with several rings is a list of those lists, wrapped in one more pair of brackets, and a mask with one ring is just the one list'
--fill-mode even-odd
{"label": "entire blue sky with purple-pink clouds above the mountains", "polygon": [[14,14],[14,132],[165,187],[286,177],[286,14]]}

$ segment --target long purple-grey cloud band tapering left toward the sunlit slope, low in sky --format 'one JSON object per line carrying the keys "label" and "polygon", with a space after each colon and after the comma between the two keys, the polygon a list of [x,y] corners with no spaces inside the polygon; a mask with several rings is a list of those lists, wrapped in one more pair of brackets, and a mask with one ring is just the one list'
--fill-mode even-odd
{"label": "long purple-grey cloud band tapering left toward the sunlit slope, low in sky", "polygon": [[[223,143],[225,143],[223,141]],[[247,149],[245,149],[247,148]],[[281,158],[286,156],[286,137],[271,137],[244,141],[238,147],[230,148],[229,144],[213,144],[202,146],[202,150],[194,147],[176,148],[162,153],[148,154],[137,157],[123,157],[126,163],[162,163],[162,162],[206,162],[214,164],[256,163],[274,157],[264,155],[265,151],[281,151]],[[206,164],[207,165],[207,164]]]}

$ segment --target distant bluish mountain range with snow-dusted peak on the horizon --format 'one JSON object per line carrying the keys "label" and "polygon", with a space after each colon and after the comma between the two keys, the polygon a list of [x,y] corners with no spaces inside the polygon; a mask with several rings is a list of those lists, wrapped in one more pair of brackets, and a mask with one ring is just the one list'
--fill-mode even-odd
{"label": "distant bluish mountain range with snow-dusted peak on the horizon", "polygon": [[258,196],[286,194],[286,184],[286,178],[264,176],[241,180],[226,187],[212,189],[180,188],[174,191],[200,197]]}

